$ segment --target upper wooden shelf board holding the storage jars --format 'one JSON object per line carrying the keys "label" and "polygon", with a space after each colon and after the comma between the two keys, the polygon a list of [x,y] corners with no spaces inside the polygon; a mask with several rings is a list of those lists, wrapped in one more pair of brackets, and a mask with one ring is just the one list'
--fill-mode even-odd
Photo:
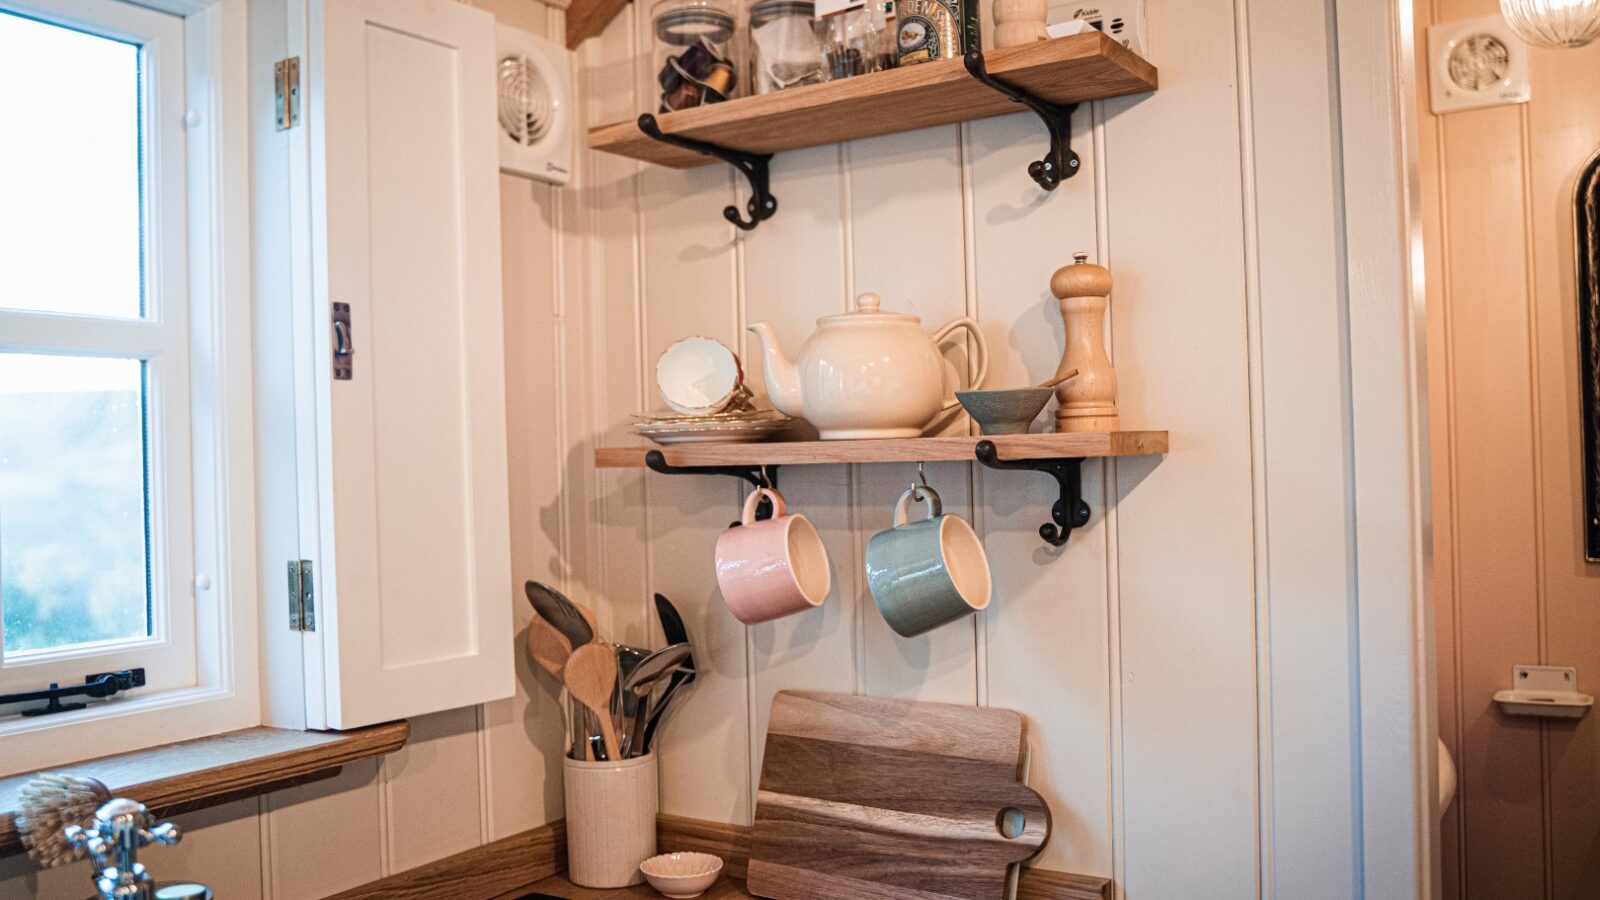
{"label": "upper wooden shelf board holding the storage jars", "polygon": [[[984,51],[989,74],[1040,99],[1074,104],[1154,91],[1155,66],[1101,32]],[[661,131],[750,154],[837,144],[1018,112],[1022,106],[966,74],[962,59],[922,62],[658,115]],[[714,157],[646,136],[637,122],[589,130],[589,146],[691,168]]]}

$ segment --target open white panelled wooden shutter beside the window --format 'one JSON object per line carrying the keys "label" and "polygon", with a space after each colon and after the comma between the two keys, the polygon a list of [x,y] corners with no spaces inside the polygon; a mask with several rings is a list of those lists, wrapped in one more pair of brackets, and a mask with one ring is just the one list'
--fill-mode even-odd
{"label": "open white panelled wooden shutter beside the window", "polygon": [[[514,689],[494,18],[453,0],[314,0],[310,13],[318,621],[306,719],[350,729]],[[349,304],[347,335],[334,304]],[[349,380],[331,375],[338,341]]]}

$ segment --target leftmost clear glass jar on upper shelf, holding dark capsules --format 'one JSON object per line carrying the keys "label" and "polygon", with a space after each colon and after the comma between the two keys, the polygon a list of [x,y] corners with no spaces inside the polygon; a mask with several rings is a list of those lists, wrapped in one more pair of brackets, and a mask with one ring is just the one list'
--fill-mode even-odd
{"label": "leftmost clear glass jar on upper shelf, holding dark capsules", "polygon": [[731,0],[659,0],[650,10],[656,35],[661,112],[722,102],[739,90],[733,61]]}

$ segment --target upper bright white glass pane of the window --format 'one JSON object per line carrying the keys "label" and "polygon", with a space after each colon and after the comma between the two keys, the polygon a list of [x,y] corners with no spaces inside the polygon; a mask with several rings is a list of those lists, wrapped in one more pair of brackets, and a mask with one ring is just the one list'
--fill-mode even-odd
{"label": "upper bright white glass pane of the window", "polygon": [[0,307],[142,314],[139,48],[0,13]]}

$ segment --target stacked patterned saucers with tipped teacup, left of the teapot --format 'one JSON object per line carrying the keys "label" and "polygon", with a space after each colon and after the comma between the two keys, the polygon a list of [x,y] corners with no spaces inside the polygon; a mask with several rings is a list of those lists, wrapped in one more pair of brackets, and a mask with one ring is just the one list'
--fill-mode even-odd
{"label": "stacked patterned saucers with tipped teacup, left of the teapot", "polygon": [[667,415],[635,415],[634,434],[656,444],[747,444],[766,440],[792,421],[757,410],[739,357],[722,341],[685,338],[656,360],[656,388]]}

